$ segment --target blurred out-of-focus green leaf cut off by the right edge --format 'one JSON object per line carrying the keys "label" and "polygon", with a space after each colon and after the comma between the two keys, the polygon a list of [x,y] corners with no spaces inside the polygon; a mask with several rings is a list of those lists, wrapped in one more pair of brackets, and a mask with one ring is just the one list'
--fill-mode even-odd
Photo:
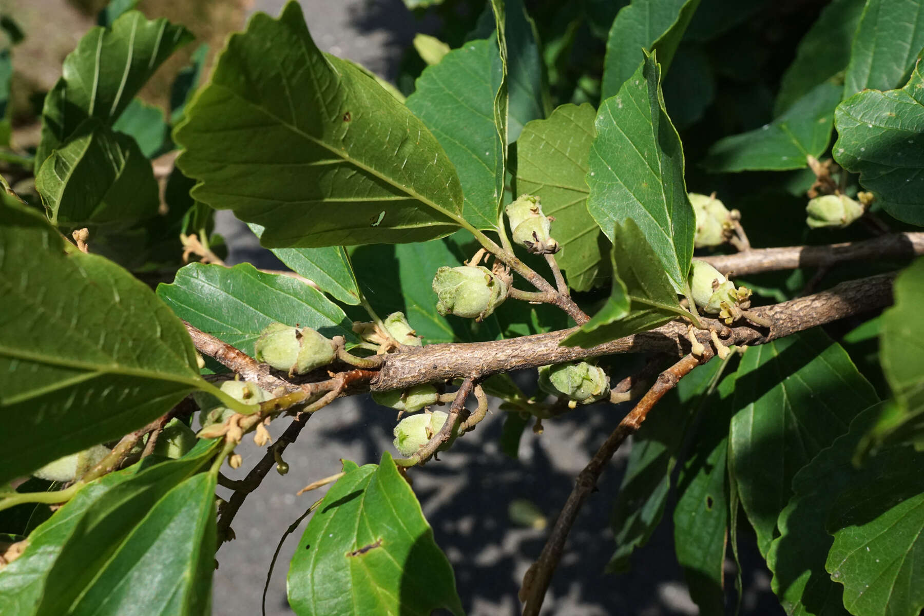
{"label": "blurred out-of-focus green leaf cut off by the right edge", "polygon": [[892,413],[867,435],[867,446],[913,442],[924,449],[924,259],[895,280],[895,302],[881,316],[880,361],[895,396]]}

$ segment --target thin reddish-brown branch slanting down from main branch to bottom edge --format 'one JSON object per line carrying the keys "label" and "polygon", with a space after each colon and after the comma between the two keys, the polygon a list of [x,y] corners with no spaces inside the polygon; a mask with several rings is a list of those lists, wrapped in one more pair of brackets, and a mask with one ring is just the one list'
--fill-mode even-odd
{"label": "thin reddish-brown branch slanting down from main branch to bottom edge", "polygon": [[[708,347],[707,347],[708,348]],[[705,356],[703,363],[709,361],[710,356]],[[610,461],[619,446],[626,439],[634,434],[641,427],[645,417],[648,416],[651,408],[661,400],[665,393],[668,393],[677,384],[677,381],[689,374],[690,370],[699,366],[700,360],[696,356],[687,355],[674,366],[667,368],[655,380],[654,385],[646,393],[638,405],[632,411],[623,417],[619,425],[613,430],[609,438],[603,442],[597,453],[590,459],[590,463],[584,467],[584,470],[577,476],[577,482],[568,500],[565,501],[565,507],[562,513],[558,514],[552,533],[542,548],[539,560],[529,567],[526,575],[523,577],[523,587],[520,589],[520,600],[526,604],[523,608],[523,616],[536,616],[542,607],[542,599],[545,598],[545,591],[552,581],[552,574],[558,561],[565,550],[565,539],[568,537],[568,531],[574,525],[577,519],[577,513],[580,513],[581,507],[587,501],[590,492],[597,485],[603,467]]]}

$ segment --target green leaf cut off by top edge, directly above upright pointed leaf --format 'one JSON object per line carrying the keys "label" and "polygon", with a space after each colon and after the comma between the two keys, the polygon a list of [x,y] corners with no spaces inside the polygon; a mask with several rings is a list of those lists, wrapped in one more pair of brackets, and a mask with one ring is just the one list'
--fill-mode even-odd
{"label": "green leaf cut off by top edge, directly above upright pointed leaf", "polygon": [[639,50],[657,50],[662,70],[667,72],[680,39],[696,12],[699,0],[635,0],[623,7],[613,21],[603,61],[601,100],[622,90],[635,76]]}

